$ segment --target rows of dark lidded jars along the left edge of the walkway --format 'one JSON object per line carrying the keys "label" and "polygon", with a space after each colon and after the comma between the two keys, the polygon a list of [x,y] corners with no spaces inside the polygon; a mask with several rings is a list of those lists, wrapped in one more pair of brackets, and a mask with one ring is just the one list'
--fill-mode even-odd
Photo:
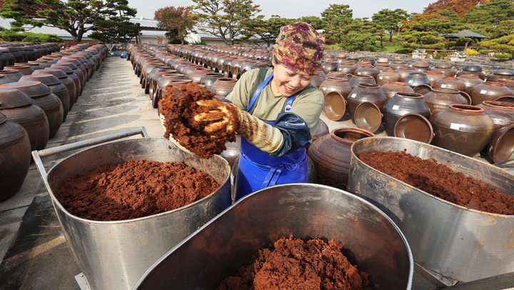
{"label": "rows of dark lidded jars along the left edge of the walkway", "polygon": [[19,191],[31,151],[56,136],[108,52],[104,44],[77,44],[0,70],[0,202]]}

